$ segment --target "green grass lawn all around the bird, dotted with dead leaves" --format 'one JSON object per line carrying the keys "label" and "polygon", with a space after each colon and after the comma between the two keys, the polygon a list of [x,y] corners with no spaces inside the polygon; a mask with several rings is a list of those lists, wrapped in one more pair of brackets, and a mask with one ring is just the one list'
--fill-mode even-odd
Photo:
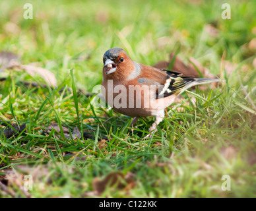
{"label": "green grass lawn all around the bird, dotted with dead leaves", "polygon": [[[221,18],[221,1],[33,1],[33,20],[23,18],[25,3],[1,1],[0,51],[20,55],[25,65],[38,62],[58,86],[25,86],[46,83],[25,71],[0,73],[6,77],[0,81],[0,130],[3,123],[27,125],[25,133],[0,135],[0,181],[16,169],[23,184],[36,169],[28,196],[256,196],[256,50],[249,47],[256,37],[255,1],[228,1],[231,20]],[[207,33],[208,24],[218,36]],[[93,96],[79,92],[101,83],[102,56],[110,47],[146,65],[168,60],[173,51],[185,62],[194,57],[226,84],[183,94],[158,132],[142,141],[153,117],[140,119],[132,133],[130,117],[96,108]],[[220,70],[224,52],[231,73]],[[52,123],[60,131],[46,135]],[[64,127],[72,133],[76,126],[82,138],[65,138]],[[96,177],[113,172],[133,173],[133,183],[93,193]],[[223,175],[230,175],[231,191],[222,191]],[[17,184],[10,179],[9,191],[26,197]],[[0,189],[0,196],[11,195]]]}

